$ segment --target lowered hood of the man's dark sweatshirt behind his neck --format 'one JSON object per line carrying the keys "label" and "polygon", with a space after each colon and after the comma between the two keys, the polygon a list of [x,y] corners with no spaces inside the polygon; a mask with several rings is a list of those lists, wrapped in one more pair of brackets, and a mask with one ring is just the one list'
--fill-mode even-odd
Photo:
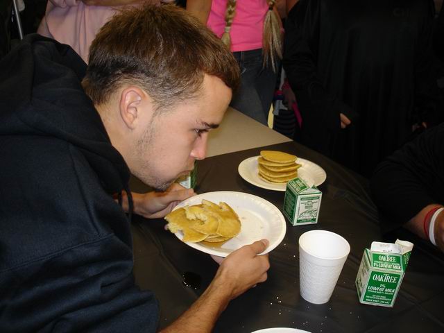
{"label": "lowered hood of the man's dark sweatshirt behind his neck", "polygon": [[0,135],[43,135],[73,144],[112,194],[128,187],[130,171],[80,84],[86,67],[69,46],[26,36],[0,61]]}

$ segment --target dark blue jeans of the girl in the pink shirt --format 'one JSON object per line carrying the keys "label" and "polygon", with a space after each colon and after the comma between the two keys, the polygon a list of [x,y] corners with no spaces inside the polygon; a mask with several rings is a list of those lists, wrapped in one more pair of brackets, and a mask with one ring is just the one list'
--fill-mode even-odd
{"label": "dark blue jeans of the girl in the pink shirt", "polygon": [[231,101],[232,108],[267,124],[277,74],[262,67],[262,49],[233,52],[241,69],[241,85]]}

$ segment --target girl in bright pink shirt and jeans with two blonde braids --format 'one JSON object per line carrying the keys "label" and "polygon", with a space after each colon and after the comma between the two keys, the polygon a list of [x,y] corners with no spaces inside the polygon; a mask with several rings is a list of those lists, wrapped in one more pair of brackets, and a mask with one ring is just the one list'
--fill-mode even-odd
{"label": "girl in bright pink shirt and jeans with two blonde braids", "polygon": [[241,68],[232,108],[266,125],[282,47],[275,0],[188,0],[187,10],[230,46]]}

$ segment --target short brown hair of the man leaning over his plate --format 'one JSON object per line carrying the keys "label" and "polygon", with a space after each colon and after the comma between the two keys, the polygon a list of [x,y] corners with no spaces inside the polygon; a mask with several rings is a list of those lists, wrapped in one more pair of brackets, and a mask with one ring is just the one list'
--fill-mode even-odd
{"label": "short brown hair of the man leaning over his plate", "polygon": [[192,99],[204,74],[236,89],[232,53],[198,19],[174,5],[143,5],[119,12],[89,49],[85,92],[100,105],[125,83],[142,87],[157,107]]}

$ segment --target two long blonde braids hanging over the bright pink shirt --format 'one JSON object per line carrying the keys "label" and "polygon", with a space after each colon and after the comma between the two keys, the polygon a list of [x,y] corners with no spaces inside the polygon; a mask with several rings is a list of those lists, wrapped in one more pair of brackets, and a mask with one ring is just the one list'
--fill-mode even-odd
{"label": "two long blonde braids hanging over the bright pink shirt", "polygon": [[[264,19],[264,33],[262,37],[262,49],[264,53],[264,67],[271,62],[271,68],[276,71],[276,62],[278,57],[282,59],[282,22],[275,10],[273,10],[276,0],[268,1],[268,11]],[[227,1],[225,10],[225,31],[221,37],[223,44],[231,47],[230,30],[236,15],[236,0]]]}

